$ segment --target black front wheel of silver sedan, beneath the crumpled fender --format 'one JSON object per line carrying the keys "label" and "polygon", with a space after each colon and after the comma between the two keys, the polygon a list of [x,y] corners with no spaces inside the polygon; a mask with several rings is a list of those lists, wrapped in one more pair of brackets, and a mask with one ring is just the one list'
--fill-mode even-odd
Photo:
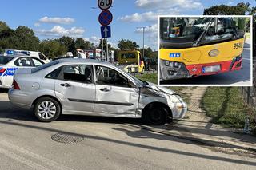
{"label": "black front wheel of silver sedan, beneath the crumpled fender", "polygon": [[148,105],[142,113],[142,121],[146,125],[165,125],[167,111],[158,105]]}

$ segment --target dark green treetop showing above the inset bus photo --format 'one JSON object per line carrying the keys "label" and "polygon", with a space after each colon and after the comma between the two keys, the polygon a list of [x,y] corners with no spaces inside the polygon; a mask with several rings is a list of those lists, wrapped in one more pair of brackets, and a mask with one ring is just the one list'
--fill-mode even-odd
{"label": "dark green treetop showing above the inset bus photo", "polygon": [[204,15],[245,15],[250,13],[250,3],[240,2],[236,6],[211,6],[203,11]]}

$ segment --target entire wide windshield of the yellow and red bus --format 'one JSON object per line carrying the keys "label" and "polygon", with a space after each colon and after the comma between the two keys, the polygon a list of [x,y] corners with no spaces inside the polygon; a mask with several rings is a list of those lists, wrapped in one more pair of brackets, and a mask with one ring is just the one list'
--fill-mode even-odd
{"label": "entire wide windshield of the yellow and red bus", "polygon": [[234,29],[232,18],[160,18],[161,43],[170,48],[229,41]]}

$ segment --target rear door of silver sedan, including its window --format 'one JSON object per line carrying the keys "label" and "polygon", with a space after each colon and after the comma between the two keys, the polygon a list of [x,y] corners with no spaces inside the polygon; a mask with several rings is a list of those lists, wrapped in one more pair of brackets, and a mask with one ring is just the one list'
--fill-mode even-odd
{"label": "rear door of silver sedan, including its window", "polygon": [[85,114],[94,110],[95,85],[92,65],[64,65],[55,80],[55,95],[63,112]]}

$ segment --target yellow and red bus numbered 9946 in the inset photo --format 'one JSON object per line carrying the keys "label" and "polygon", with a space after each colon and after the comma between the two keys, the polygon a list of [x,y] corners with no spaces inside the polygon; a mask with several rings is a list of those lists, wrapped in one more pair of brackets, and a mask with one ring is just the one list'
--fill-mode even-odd
{"label": "yellow and red bus numbered 9946 in the inset photo", "polygon": [[160,81],[242,68],[244,31],[230,17],[160,18]]}

